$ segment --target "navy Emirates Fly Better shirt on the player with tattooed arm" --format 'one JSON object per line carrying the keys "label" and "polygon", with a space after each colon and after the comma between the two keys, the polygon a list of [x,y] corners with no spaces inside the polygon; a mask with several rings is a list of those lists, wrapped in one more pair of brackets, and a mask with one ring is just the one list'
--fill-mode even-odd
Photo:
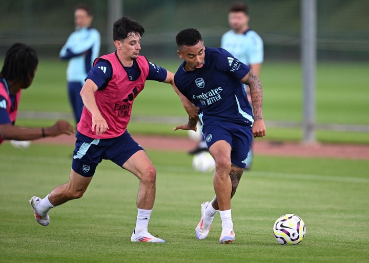
{"label": "navy Emirates Fly Better shirt on the player with tattooed arm", "polygon": [[203,124],[231,122],[252,125],[254,117],[240,80],[250,67],[222,48],[206,48],[201,69],[186,71],[181,64],[174,75],[178,90],[200,108]]}

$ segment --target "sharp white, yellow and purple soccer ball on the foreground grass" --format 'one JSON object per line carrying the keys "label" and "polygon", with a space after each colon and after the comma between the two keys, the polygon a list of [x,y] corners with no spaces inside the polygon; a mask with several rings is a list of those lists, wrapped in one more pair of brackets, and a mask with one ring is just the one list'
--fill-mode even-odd
{"label": "sharp white, yellow and purple soccer ball on the foreground grass", "polygon": [[305,237],[306,227],[299,216],[286,214],[275,221],[273,232],[279,244],[297,245]]}

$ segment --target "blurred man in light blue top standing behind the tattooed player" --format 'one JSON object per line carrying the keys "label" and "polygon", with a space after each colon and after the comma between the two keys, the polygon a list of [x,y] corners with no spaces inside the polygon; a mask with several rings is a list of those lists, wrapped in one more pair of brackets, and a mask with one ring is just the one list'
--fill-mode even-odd
{"label": "blurred man in light blue top standing behind the tattooed player", "polygon": [[[223,34],[220,47],[237,57],[243,64],[248,65],[254,75],[259,77],[264,57],[263,42],[261,37],[250,29],[249,21],[249,7],[241,2],[233,3],[228,14],[228,23],[231,30]],[[247,89],[250,102],[250,89],[247,85],[244,86]],[[200,129],[197,132],[200,132]],[[203,136],[201,136],[197,147],[189,153],[196,154],[201,151],[208,151]],[[251,162],[252,150],[250,149],[245,169],[251,168]]]}

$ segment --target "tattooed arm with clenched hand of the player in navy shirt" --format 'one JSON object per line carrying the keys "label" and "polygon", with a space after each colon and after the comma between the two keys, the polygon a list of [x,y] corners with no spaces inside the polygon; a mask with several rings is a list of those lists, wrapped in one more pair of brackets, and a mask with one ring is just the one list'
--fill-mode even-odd
{"label": "tattooed arm with clenched hand of the player in navy shirt", "polygon": [[262,117],[262,88],[260,79],[250,70],[241,82],[250,87],[251,102],[254,109],[254,124],[252,127],[254,137],[265,136],[265,124]]}

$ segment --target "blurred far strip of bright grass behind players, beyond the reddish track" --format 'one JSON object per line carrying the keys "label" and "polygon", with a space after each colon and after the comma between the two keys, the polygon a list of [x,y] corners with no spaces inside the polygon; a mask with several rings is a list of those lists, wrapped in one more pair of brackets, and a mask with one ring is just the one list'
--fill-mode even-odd
{"label": "blurred far strip of bright grass behind players, beyond the reddish track", "polygon": [[[180,60],[156,61],[175,72]],[[23,92],[19,111],[70,112],[65,71],[59,60],[41,59],[32,86]],[[319,63],[316,85],[316,120],[319,124],[369,125],[367,63]],[[265,120],[302,121],[301,66],[294,62],[265,62],[260,79],[263,84]],[[133,116],[177,116],[186,120],[177,95],[167,84],[148,81],[135,99]],[[41,122],[45,122],[42,120]],[[18,119],[18,125],[36,126],[37,120]],[[50,123],[50,122],[49,122]],[[52,123],[52,122],[51,122]],[[174,134],[173,125],[131,122],[136,133]],[[168,127],[170,126],[170,129]],[[267,127],[268,137],[301,140],[300,129]],[[177,133],[178,134],[178,133]],[[185,133],[181,133],[185,134]],[[367,133],[317,131],[317,139],[329,143],[369,143]]]}

